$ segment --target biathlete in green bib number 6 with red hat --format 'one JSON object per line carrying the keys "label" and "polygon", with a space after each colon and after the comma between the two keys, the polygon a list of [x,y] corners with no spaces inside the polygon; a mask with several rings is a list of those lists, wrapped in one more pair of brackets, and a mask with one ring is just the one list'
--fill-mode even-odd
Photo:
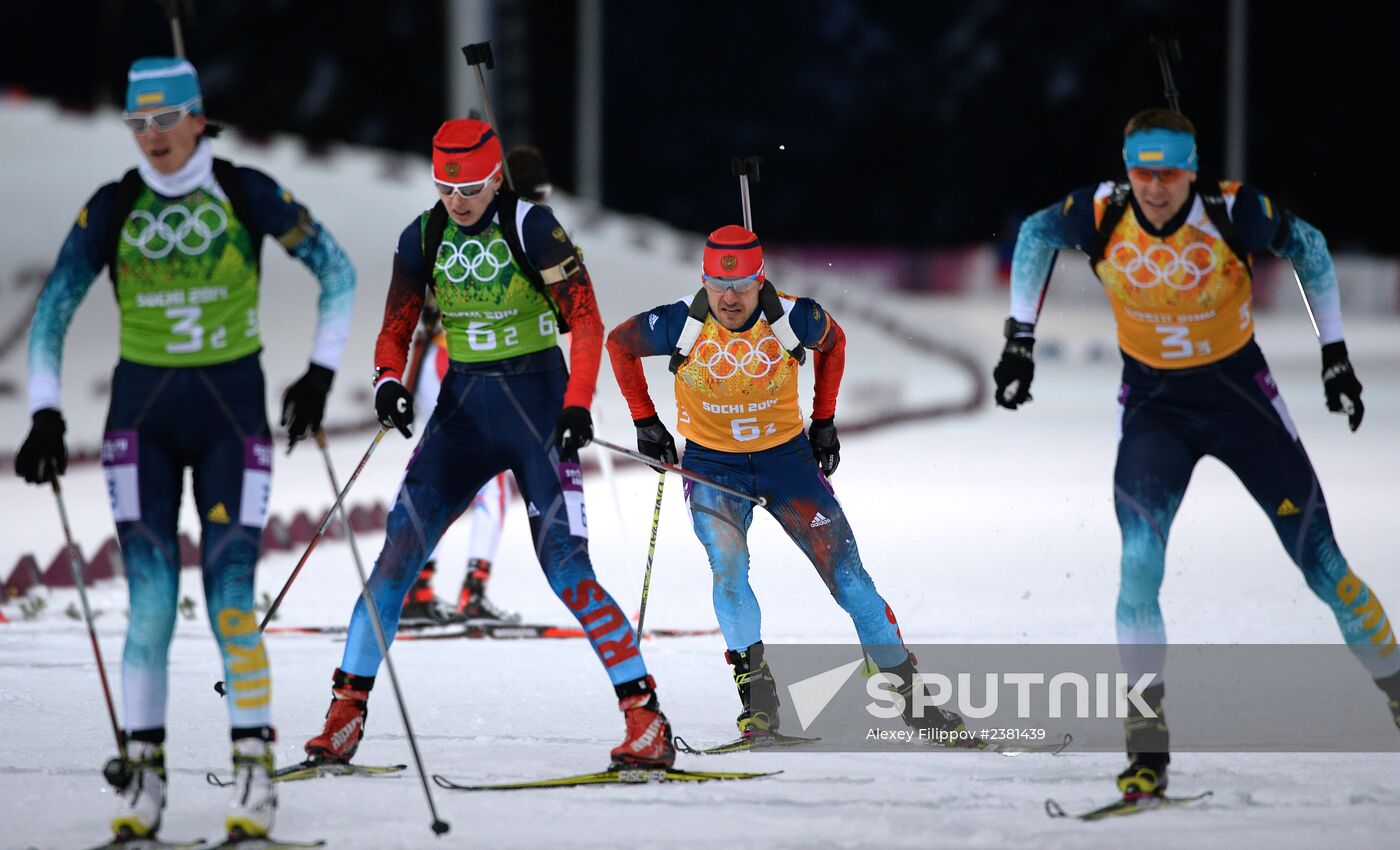
{"label": "biathlete in green bib number 6 with red hat", "polygon": [[[612,763],[669,767],[675,748],[655,681],[631,623],[588,559],[578,450],[592,440],[588,407],[603,336],[592,280],[550,209],[503,189],[501,143],[490,125],[444,123],[433,137],[433,179],[440,203],[409,223],[393,258],[374,354],[379,421],[413,434],[403,374],[428,287],[451,363],[389,511],[368,595],[392,640],[403,597],[442,532],[482,486],[510,469],[545,577],[587,632],[626,718]],[[573,332],[571,371],[559,347],[561,319]],[[332,676],[325,728],[307,742],[314,760],[354,755],[381,661],[361,597]]]}

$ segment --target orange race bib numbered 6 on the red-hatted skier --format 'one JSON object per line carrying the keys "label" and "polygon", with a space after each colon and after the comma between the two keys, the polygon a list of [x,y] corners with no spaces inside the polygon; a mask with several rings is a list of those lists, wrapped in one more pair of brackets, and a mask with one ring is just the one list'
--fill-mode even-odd
{"label": "orange race bib numbered 6 on the red-hatted skier", "polygon": [[[784,308],[794,300],[783,297]],[[676,427],[717,451],[750,452],[802,433],[798,363],[760,315],[743,332],[706,319],[690,357],[676,370]]]}

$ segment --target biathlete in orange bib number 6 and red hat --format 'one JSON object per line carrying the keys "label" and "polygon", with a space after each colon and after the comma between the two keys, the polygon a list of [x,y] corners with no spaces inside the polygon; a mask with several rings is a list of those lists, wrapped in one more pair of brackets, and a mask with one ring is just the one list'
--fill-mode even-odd
{"label": "biathlete in orange bib number 6 and red hat", "polygon": [[[827,482],[841,457],[834,417],[846,335],[816,301],[781,293],[767,280],[763,246],[742,227],[710,234],[701,277],[699,293],[640,312],[608,336],[613,372],[637,426],[637,450],[676,462],[675,440],[657,416],[640,361],[665,354],[676,375],[685,468],[767,500],[767,511],[851,616],[867,654],[896,674],[907,695],[913,658],[895,612],[861,564],[855,535]],[[816,388],[812,427],[804,434],[798,367],[808,350]],[[777,688],[763,660],[759,601],[749,587],[753,503],[690,480],[686,501],[714,570],[714,611],[743,706],[739,732],[774,735]],[[962,728],[958,714],[935,709],[914,720],[913,700],[904,704],[911,725]]]}

